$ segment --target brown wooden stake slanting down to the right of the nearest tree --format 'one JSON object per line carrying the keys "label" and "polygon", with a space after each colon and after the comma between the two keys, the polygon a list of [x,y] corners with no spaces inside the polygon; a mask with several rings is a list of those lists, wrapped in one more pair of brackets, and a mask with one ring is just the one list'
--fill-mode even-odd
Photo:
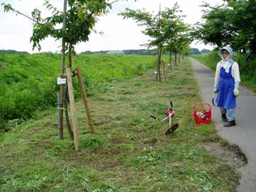
{"label": "brown wooden stake slanting down to the right of the nearest tree", "polygon": [[81,93],[82,93],[82,100],[84,102],[85,110],[86,110],[86,113],[87,113],[88,123],[90,125],[90,129],[91,129],[92,134],[94,134],[95,133],[95,127],[93,125],[92,116],[90,114],[90,108],[89,108],[88,103],[87,103],[85,85],[84,85],[84,82],[82,80],[82,75],[80,73],[80,69],[76,68],[75,70],[76,70],[76,74],[78,75],[79,86],[80,86],[80,90],[81,90]]}

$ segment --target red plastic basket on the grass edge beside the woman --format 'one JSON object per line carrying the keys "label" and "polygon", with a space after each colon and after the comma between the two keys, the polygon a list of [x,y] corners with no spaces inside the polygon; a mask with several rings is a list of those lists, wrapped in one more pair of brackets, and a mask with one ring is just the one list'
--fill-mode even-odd
{"label": "red plastic basket on the grass edge beside the woman", "polygon": [[211,118],[210,104],[201,103],[193,106],[193,117],[196,124],[209,124]]}

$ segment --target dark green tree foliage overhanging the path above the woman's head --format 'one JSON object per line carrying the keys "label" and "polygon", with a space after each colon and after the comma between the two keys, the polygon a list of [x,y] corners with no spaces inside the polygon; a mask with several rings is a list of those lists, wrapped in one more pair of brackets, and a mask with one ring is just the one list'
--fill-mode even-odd
{"label": "dark green tree foliage overhanging the path above the woman's head", "polygon": [[203,19],[193,36],[218,47],[230,45],[239,53],[256,55],[256,1],[229,0],[218,6],[203,5]]}

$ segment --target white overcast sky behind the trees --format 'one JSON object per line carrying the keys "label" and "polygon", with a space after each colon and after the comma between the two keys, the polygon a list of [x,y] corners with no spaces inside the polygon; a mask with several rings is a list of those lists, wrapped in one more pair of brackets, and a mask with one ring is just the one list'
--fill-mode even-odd
{"label": "white overcast sky behind the trees", "polygon": [[[44,0],[0,0],[1,3],[11,4],[14,9],[31,16],[31,11],[38,8],[42,11],[42,16],[46,17],[50,14],[43,7]],[[119,12],[124,11],[126,7],[129,9],[146,9],[146,11],[156,13],[165,7],[172,7],[174,3],[178,3],[183,14],[186,15],[184,21],[193,25],[201,21],[202,0],[128,0],[120,1],[113,4],[112,10],[106,16],[100,17],[97,25],[97,31],[102,31],[104,34],[92,33],[90,41],[80,43],[75,46],[75,50],[80,53],[85,50],[125,50],[125,49],[140,49],[141,46],[149,40],[148,36],[142,34],[142,27],[137,26],[137,23],[132,19],[122,19],[122,16],[117,16]],[[222,4],[221,0],[206,0],[206,2],[216,5]],[[63,10],[63,0],[50,0],[53,6],[60,11]],[[24,16],[16,16],[14,13],[4,13],[3,6],[0,6],[0,49],[11,49],[27,51],[29,53],[37,53],[38,50],[32,50],[32,44],[29,39],[32,34],[32,22]],[[212,49],[213,46],[203,45],[193,42],[191,47]],[[61,42],[55,41],[53,38],[47,38],[41,42],[41,52],[58,52],[60,51]]]}

